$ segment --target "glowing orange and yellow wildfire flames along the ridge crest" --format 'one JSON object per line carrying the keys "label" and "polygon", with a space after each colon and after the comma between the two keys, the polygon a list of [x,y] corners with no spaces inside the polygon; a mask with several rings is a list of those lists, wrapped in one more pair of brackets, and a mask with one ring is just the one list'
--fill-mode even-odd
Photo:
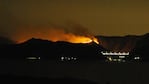
{"label": "glowing orange and yellow wildfire flames along the ridge crest", "polygon": [[[30,28],[32,29],[32,28]],[[98,39],[94,36],[81,36],[75,35],[73,33],[66,33],[62,29],[46,29],[46,30],[23,30],[19,31],[13,39],[17,41],[17,43],[22,43],[30,38],[40,38],[46,39],[53,42],[56,41],[66,41],[70,43],[91,43],[95,42],[99,44]]]}

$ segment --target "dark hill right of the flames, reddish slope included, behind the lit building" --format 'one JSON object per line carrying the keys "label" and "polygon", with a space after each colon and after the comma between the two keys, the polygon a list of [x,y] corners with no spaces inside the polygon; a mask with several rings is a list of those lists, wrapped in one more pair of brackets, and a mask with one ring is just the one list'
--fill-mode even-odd
{"label": "dark hill right of the flames, reddish slope included, behind the lit building", "polygon": [[141,61],[149,61],[149,33],[140,36],[97,36],[97,38],[105,49],[130,52],[129,60],[140,57]]}

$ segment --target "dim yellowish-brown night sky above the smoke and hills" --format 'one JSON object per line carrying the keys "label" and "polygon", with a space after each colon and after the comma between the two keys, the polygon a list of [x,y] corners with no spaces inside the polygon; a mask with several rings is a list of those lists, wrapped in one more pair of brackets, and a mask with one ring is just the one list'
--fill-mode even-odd
{"label": "dim yellowish-brown night sky above the smoke and hills", "polygon": [[149,0],[0,0],[0,11],[0,35],[4,36],[21,27],[69,22],[95,35],[149,32]]}

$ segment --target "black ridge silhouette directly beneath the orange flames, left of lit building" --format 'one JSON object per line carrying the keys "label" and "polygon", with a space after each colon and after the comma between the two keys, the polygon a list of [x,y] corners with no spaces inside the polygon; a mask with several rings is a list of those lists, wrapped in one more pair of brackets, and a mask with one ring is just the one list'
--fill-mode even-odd
{"label": "black ridge silhouette directly beneath the orange flames, left of lit building", "polygon": [[52,42],[32,38],[21,44],[7,45],[0,48],[1,58],[25,59],[27,57],[40,57],[41,59],[60,60],[63,57],[84,59],[104,59],[102,46],[92,42],[88,44]]}

